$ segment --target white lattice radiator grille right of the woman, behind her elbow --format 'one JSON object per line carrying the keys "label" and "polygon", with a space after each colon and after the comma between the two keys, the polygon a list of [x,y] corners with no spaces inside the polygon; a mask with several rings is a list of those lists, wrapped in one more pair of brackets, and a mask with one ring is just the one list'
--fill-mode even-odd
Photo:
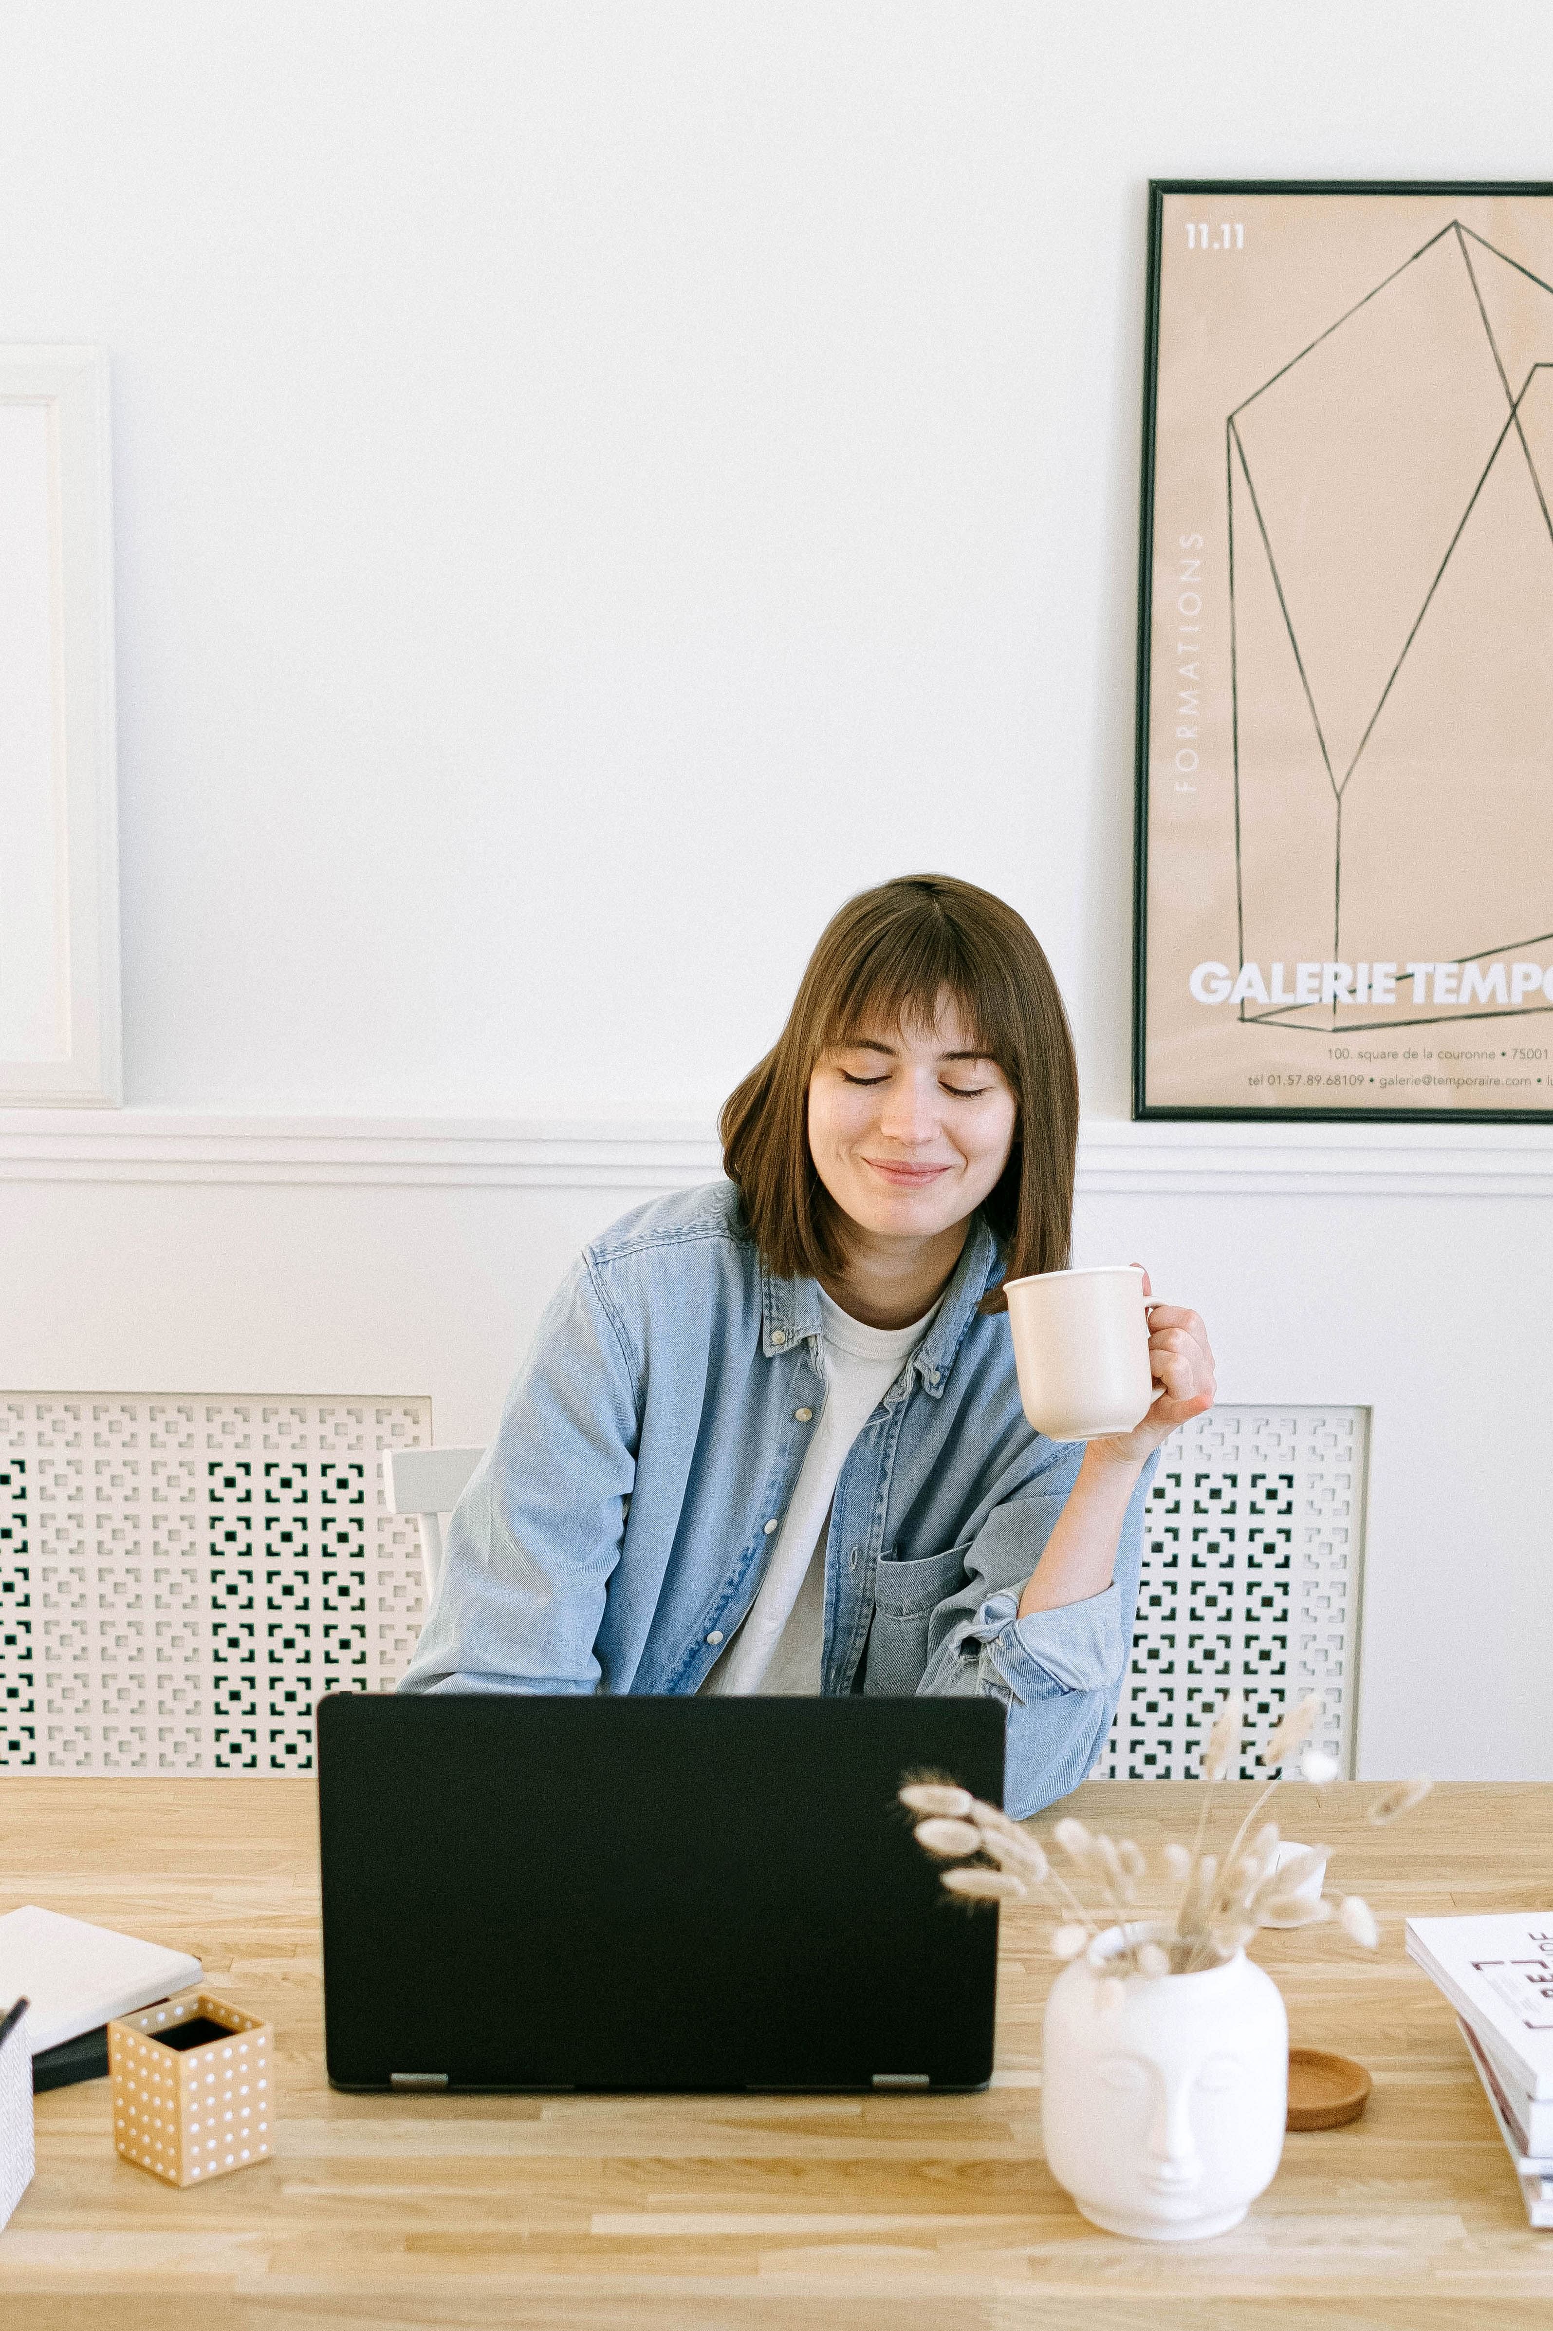
{"label": "white lattice radiator grille right of the woman, behind her elbow", "polygon": [[1241,1781],[1309,1692],[1316,1744],[1353,1774],[1364,1571],[1364,1408],[1213,1408],[1164,1445],[1106,1781],[1194,1781],[1213,1713],[1246,1695]]}

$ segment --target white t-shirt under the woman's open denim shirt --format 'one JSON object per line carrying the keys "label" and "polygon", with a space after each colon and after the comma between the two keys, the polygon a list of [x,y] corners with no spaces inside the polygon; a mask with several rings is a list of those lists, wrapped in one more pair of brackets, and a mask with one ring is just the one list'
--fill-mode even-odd
{"label": "white t-shirt under the woman's open denim shirt", "polygon": [[703,1692],[817,1695],[824,1657],[824,1541],[848,1450],[922,1343],[938,1310],[910,1326],[864,1326],[820,1291],[824,1408],[745,1622]]}

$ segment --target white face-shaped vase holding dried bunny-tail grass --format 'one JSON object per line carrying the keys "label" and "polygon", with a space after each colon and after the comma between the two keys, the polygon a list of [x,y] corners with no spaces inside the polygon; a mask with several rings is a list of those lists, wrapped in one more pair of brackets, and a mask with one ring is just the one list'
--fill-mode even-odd
{"label": "white face-shaped vase holding dried bunny-tail grass", "polygon": [[1288,2016],[1243,1953],[1204,1974],[1129,1974],[1120,2000],[1076,1960],[1045,2005],[1045,2161],[1108,2233],[1201,2240],[1271,2184],[1288,2110]]}

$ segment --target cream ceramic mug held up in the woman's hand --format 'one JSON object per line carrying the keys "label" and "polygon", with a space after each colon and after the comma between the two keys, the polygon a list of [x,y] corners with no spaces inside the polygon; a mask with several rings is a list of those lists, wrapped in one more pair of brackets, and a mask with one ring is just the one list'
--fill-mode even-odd
{"label": "cream ceramic mug held up in the woman's hand", "polygon": [[1148,1312],[1136,1263],[1013,1280],[1008,1326],[1024,1415],[1048,1441],[1129,1434],[1155,1406]]}

